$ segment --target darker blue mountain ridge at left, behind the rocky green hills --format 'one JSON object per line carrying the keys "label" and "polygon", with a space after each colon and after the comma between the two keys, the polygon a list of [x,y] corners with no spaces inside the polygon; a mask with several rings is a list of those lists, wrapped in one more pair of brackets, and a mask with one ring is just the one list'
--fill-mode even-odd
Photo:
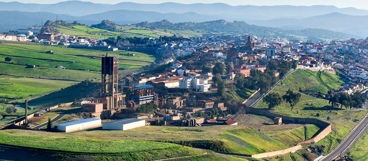
{"label": "darker blue mountain ridge at left, behind the rocky green hills", "polygon": [[[43,25],[47,20],[56,21],[56,18],[67,21],[79,21],[82,24],[98,24],[104,19],[109,19],[117,24],[134,24],[143,21],[156,22],[167,19],[171,22],[204,22],[220,19],[216,16],[199,15],[194,12],[184,14],[163,14],[159,12],[114,10],[100,14],[92,14],[75,17],[66,14],[54,14],[50,12],[21,12],[21,11],[0,11],[0,32],[10,29],[28,28],[32,25]],[[43,21],[42,21],[43,19]]]}

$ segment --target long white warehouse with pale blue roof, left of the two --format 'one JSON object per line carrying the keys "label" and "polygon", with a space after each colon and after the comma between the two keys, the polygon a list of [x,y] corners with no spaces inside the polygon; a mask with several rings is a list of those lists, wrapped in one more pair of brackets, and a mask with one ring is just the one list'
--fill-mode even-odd
{"label": "long white warehouse with pale blue roof, left of the two", "polygon": [[75,130],[93,128],[96,126],[101,126],[101,119],[86,118],[77,121],[65,122],[63,124],[52,125],[51,128],[56,128],[56,130],[60,132],[71,132]]}

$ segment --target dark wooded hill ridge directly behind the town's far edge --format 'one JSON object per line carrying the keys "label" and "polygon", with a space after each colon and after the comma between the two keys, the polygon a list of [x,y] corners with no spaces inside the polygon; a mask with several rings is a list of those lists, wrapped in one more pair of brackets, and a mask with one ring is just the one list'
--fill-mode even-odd
{"label": "dark wooded hill ridge directly behind the town's far edge", "polygon": [[313,41],[326,39],[348,39],[351,35],[332,32],[323,29],[284,30],[280,28],[249,25],[243,21],[227,22],[216,20],[208,22],[181,22],[173,24],[167,20],[160,22],[141,22],[135,26],[150,29],[170,29],[181,31],[195,31],[199,33],[222,33],[233,35],[256,35],[266,37],[286,37],[288,39],[307,38]]}

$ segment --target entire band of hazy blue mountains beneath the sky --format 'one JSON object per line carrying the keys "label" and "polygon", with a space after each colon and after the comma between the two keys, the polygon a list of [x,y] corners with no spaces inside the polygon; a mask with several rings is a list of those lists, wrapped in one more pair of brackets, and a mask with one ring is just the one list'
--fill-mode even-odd
{"label": "entire band of hazy blue mountains beneath the sky", "polygon": [[[24,4],[0,2],[0,32],[10,29],[43,25],[58,19],[82,24],[98,24],[102,20],[119,24],[157,22],[206,22],[218,19],[244,21],[258,26],[278,27],[290,31],[320,28],[354,35],[368,36],[368,10],[337,8],[335,6],[230,6],[213,4],[139,4],[123,2],[98,4],[65,1],[57,4]],[[83,7],[81,7],[83,6]],[[3,11],[1,11],[3,10]],[[43,22],[41,21],[43,18]]]}

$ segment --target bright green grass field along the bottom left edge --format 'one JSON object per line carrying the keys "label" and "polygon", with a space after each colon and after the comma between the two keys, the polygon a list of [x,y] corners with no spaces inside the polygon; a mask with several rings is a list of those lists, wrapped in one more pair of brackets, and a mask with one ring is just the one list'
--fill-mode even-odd
{"label": "bright green grass field along the bottom left edge", "polygon": [[0,143],[12,146],[81,154],[125,155],[127,158],[141,158],[141,160],[156,160],[205,153],[204,150],[195,150],[177,144],[146,140],[107,141],[76,137],[19,136],[4,132],[0,132],[0,137],[2,138]]}

